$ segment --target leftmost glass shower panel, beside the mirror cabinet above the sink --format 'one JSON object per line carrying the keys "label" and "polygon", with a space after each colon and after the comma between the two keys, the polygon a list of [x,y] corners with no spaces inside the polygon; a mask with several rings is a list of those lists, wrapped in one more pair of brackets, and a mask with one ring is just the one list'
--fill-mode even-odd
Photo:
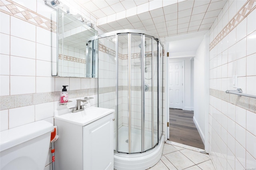
{"label": "leftmost glass shower panel, beside the mirror cabinet above the sink", "polygon": [[[116,36],[98,39],[98,107],[114,109],[116,114]],[[118,116],[121,117],[121,116]],[[115,122],[118,122],[115,119]],[[116,130],[116,123],[114,129]],[[114,131],[115,132],[115,131]],[[116,150],[116,141],[114,140]]]}

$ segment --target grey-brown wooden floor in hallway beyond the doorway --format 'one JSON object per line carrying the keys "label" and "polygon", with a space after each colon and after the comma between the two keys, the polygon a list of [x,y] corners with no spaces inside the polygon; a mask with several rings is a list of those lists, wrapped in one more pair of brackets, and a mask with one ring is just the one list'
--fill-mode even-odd
{"label": "grey-brown wooden floor in hallway beyond the doorway", "polygon": [[170,141],[204,149],[204,143],[193,121],[194,111],[169,109]]}

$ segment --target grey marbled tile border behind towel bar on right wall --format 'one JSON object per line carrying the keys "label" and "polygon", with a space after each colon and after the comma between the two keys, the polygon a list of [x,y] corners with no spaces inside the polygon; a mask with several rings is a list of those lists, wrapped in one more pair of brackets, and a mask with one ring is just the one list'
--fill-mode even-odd
{"label": "grey marbled tile border behind towel bar on right wall", "polygon": [[210,95],[217,97],[228,103],[232,103],[236,106],[242,107],[248,111],[256,113],[256,99],[252,97],[238,96],[234,94],[227,94],[224,91],[219,91],[215,89],[210,89]]}

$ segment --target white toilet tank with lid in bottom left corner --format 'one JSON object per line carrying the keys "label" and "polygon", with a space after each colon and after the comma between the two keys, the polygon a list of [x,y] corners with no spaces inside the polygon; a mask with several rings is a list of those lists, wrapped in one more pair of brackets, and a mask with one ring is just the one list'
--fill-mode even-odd
{"label": "white toilet tank with lid in bottom left corner", "polygon": [[44,170],[53,125],[36,121],[0,132],[1,170]]}

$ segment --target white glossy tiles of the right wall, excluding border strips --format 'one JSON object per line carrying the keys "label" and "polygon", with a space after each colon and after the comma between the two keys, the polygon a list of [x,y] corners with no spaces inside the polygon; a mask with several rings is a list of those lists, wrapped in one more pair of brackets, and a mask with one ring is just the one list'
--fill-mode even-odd
{"label": "white glossy tiles of the right wall, excluding border strips", "polygon": [[[211,42],[244,3],[246,1],[228,1],[210,29]],[[233,89],[232,76],[238,75],[238,87],[242,88],[243,93],[256,94],[255,15],[256,10],[244,18],[210,51],[210,88],[223,92],[227,89],[231,90]],[[219,73],[220,68],[221,74]],[[219,83],[219,79],[222,80],[221,83]],[[230,95],[230,99],[231,97],[232,95]],[[210,97],[210,114],[212,113],[212,117],[210,116],[209,119],[210,156],[215,168],[255,167],[256,128],[254,125],[256,113],[223,100],[221,100],[220,106],[218,100],[221,99]],[[221,121],[219,121],[218,114],[221,115]]]}

